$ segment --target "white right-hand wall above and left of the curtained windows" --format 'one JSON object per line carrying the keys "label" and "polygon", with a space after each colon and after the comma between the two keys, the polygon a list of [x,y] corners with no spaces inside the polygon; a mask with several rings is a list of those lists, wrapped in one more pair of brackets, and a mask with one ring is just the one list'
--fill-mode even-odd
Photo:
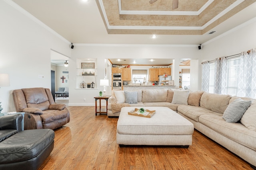
{"label": "white right-hand wall above and left of the curtained windows", "polygon": [[218,57],[240,54],[242,51],[256,48],[256,18],[210,40],[202,45],[201,61],[199,61],[199,80],[202,84],[202,62],[211,61]]}

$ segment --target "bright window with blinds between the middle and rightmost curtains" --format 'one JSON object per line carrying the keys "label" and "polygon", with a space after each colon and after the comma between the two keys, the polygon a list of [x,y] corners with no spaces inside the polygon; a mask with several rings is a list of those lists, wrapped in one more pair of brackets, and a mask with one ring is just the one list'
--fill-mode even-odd
{"label": "bright window with blinds between the middle and rightmost curtains", "polygon": [[238,92],[238,74],[239,74],[240,57],[227,60],[227,94],[236,96]]}

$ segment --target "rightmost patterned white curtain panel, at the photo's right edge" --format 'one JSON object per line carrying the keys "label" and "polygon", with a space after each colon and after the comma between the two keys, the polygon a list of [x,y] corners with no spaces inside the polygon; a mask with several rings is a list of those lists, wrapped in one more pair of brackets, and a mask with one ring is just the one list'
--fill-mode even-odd
{"label": "rightmost patterned white curtain panel, at the photo's right edge", "polygon": [[256,98],[256,49],[241,53],[238,78],[237,95]]}

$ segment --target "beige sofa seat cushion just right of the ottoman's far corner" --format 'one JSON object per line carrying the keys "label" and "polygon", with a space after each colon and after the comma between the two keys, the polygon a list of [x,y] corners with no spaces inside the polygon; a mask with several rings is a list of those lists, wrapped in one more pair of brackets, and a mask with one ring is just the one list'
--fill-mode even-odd
{"label": "beige sofa seat cushion just right of the ottoman's far corner", "polygon": [[194,120],[199,121],[199,117],[201,115],[221,115],[221,113],[217,113],[215,111],[211,111],[209,109],[206,109],[204,107],[195,107],[190,105],[179,105],[177,108],[178,113],[182,113],[186,117]]}

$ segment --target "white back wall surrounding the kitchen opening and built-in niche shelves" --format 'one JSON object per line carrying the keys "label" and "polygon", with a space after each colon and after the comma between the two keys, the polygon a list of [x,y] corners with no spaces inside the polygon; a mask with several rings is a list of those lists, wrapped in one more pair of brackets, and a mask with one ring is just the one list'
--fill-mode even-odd
{"label": "white back wall surrounding the kitchen opening and built-in niche shelves", "polygon": [[[182,51],[182,53],[180,53]],[[158,45],[75,45],[72,49],[72,59],[69,60],[70,88],[69,88],[69,106],[94,106],[94,96],[98,96],[103,87],[96,89],[76,89],[76,59],[79,58],[97,58],[98,76],[97,82],[105,77],[105,59],[108,58],[160,58],[176,59],[180,61],[183,58],[198,59],[199,50],[197,46],[172,47]],[[173,73],[172,69],[172,73]],[[176,71],[178,78],[178,71]],[[174,81],[175,82],[175,81]],[[176,80],[178,83],[178,80]],[[86,99],[86,101],[84,101]]]}

